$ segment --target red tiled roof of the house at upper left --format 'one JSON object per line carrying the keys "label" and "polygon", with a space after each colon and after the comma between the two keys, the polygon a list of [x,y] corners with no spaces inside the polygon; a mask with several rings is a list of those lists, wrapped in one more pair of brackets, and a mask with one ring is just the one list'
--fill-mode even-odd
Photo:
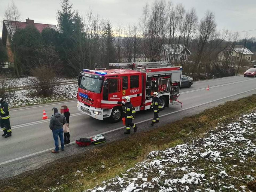
{"label": "red tiled roof of the house at upper left", "polygon": [[17,28],[25,28],[27,25],[33,25],[35,26],[35,28],[41,33],[43,31],[43,29],[45,28],[50,28],[50,29],[54,29],[54,30],[58,30],[58,28],[56,27],[56,25],[50,25],[50,24],[43,24],[43,23],[34,23],[34,20],[32,20],[32,23],[28,23],[28,22],[21,22],[21,21],[8,21],[8,20],[4,20],[4,24],[6,26],[7,32],[11,33],[10,29],[14,29],[14,31],[16,30],[16,26]]}

